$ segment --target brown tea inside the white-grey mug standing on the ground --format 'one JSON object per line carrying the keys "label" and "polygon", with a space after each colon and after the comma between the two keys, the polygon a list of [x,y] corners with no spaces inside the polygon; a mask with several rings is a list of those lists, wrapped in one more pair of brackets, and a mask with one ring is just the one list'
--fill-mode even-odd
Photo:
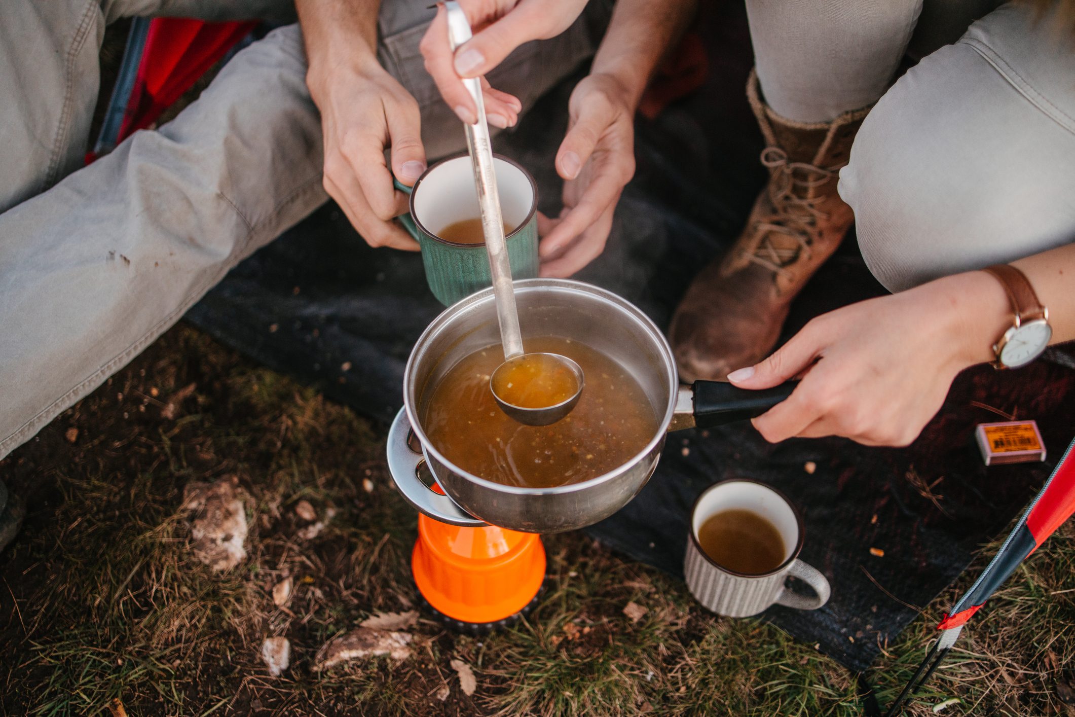
{"label": "brown tea inside the white-grey mug standing on the ground", "polygon": [[754,511],[714,513],[699,529],[698,542],[718,565],[744,575],[761,575],[784,562],[780,531]]}

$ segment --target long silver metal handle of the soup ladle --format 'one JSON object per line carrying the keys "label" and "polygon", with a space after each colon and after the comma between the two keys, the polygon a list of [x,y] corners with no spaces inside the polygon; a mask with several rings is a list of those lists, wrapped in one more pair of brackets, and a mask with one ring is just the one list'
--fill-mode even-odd
{"label": "long silver metal handle of the soup ladle", "polygon": [[[444,8],[448,18],[448,43],[455,51],[471,39],[470,21],[458,2],[449,0],[444,3]],[[500,193],[497,191],[497,175],[492,166],[492,141],[485,119],[485,102],[482,100],[482,80],[463,80],[463,86],[477,107],[477,121],[463,126],[467,128],[467,149],[474,168],[474,188],[482,210],[482,231],[489,253],[492,292],[497,300],[500,340],[506,361],[522,355],[522,333],[519,330],[519,313],[515,307],[515,289],[512,286],[512,262],[507,257],[507,243],[504,239],[504,219],[500,212]]]}

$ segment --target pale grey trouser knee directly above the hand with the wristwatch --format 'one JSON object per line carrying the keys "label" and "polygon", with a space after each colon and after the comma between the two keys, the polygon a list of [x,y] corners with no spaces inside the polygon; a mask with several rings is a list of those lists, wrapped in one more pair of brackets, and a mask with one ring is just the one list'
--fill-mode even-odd
{"label": "pale grey trouser knee directly above the hand with the wristwatch", "polygon": [[866,266],[888,289],[1071,241],[1075,141],[966,43],[901,77],[840,174]]}

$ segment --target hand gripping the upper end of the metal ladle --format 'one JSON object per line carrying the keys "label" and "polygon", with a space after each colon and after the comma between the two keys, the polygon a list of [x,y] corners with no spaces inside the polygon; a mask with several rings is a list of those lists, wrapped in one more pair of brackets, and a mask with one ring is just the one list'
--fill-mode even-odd
{"label": "hand gripping the upper end of the metal ladle", "polygon": [[[473,125],[477,121],[477,107],[463,87],[462,78],[484,75],[526,42],[560,34],[583,12],[586,0],[459,0],[459,6],[471,27],[478,28],[474,37],[453,53],[448,44],[447,11],[441,5],[421,39],[420,48],[426,70],[444,101],[460,119]],[[515,111],[521,111],[517,99],[504,92],[499,95],[505,101],[515,100]],[[488,112],[487,102],[487,116]],[[507,127],[501,124],[502,118],[488,119],[490,125],[501,129]]]}

